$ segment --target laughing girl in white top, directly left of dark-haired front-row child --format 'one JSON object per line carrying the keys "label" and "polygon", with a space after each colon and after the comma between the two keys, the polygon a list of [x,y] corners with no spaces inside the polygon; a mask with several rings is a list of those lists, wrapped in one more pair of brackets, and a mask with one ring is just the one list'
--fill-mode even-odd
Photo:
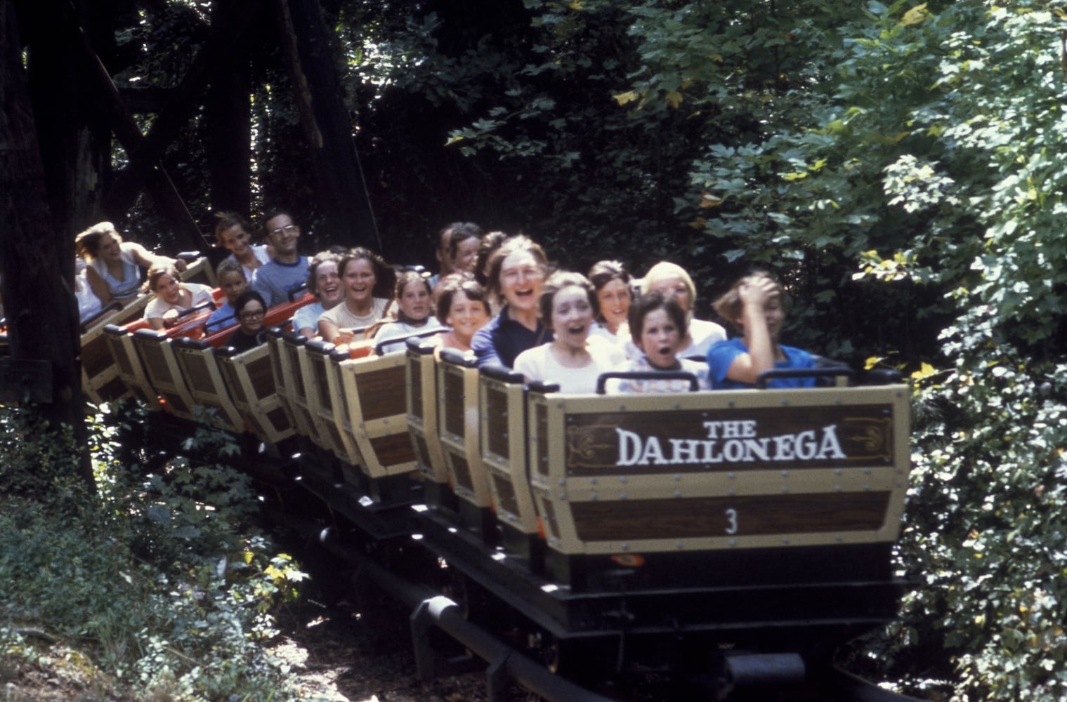
{"label": "laughing girl in white top, directly left of dark-haired front-row child", "polygon": [[596,317],[596,292],[580,273],[554,273],[539,300],[540,315],[553,340],[515,358],[515,372],[527,381],[556,383],[560,393],[594,393],[596,379],[619,365],[622,348],[590,336]]}

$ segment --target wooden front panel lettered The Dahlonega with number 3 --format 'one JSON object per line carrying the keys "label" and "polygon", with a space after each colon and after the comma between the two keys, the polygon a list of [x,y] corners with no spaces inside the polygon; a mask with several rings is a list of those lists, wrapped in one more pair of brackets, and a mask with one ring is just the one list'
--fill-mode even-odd
{"label": "wooden front panel lettered The Dahlonega with number 3", "polygon": [[528,397],[532,485],[559,552],[897,537],[910,461],[901,385]]}

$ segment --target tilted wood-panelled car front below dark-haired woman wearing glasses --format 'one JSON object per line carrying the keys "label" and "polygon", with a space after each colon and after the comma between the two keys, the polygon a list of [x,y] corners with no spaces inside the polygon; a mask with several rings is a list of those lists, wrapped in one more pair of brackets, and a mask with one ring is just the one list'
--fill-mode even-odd
{"label": "tilted wood-panelled car front below dark-haired woman wearing glasses", "polygon": [[214,356],[241,416],[261,441],[276,444],[292,436],[296,430],[274,386],[270,348],[261,344],[243,353],[234,351],[230,347],[216,349]]}

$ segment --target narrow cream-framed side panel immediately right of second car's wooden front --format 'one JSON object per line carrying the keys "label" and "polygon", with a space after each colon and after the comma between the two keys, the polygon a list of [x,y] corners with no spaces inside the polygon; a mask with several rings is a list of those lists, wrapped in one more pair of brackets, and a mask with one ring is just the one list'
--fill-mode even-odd
{"label": "narrow cream-framed side panel immediately right of second car's wooden front", "polygon": [[437,366],[435,347],[413,339],[408,342],[407,393],[408,432],[419,472],[427,480],[448,482],[445,454],[437,433]]}

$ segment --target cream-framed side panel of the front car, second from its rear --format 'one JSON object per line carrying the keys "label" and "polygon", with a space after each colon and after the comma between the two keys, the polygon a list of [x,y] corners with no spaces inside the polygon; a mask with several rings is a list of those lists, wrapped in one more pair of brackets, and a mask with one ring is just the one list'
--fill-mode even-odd
{"label": "cream-framed side panel of the front car, second from its rear", "polygon": [[467,504],[489,509],[492,497],[479,442],[478,364],[473,355],[442,350],[437,393],[441,446],[452,490]]}

